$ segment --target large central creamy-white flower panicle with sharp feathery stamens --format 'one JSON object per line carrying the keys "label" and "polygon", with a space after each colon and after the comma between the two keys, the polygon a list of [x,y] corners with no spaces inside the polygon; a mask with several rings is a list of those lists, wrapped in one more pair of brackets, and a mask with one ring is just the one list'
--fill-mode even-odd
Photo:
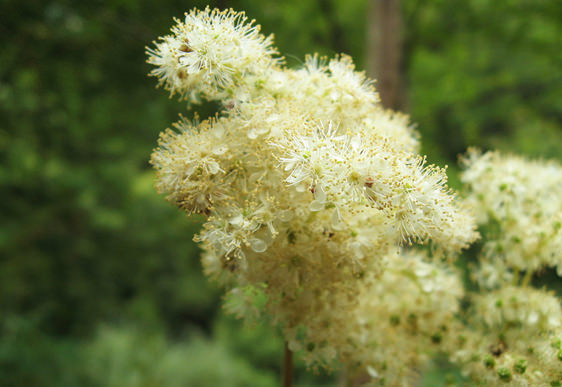
{"label": "large central creamy-white flower panicle with sharp feathery stamens", "polygon": [[206,217],[203,266],[237,313],[267,312],[309,364],[339,357],[372,377],[407,377],[462,291],[439,266],[396,252],[428,240],[457,252],[478,236],[473,218],[349,57],[284,68],[245,22],[194,10],[148,50],[172,94],[222,106],[161,135],[157,188]]}

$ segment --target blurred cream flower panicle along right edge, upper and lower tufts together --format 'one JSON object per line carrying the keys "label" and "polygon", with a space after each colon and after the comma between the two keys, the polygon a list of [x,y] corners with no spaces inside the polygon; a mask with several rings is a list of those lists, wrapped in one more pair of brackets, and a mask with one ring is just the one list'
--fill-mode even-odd
{"label": "blurred cream flower panicle along right edge, upper and lower tufts together", "polygon": [[463,163],[486,243],[473,273],[483,292],[473,296],[452,360],[484,385],[560,385],[560,300],[529,283],[544,267],[562,274],[562,167],[477,150]]}

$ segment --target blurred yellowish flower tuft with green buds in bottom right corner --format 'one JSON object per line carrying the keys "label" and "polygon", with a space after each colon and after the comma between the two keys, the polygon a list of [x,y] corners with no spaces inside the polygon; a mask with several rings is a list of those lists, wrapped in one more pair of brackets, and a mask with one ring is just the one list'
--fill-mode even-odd
{"label": "blurred yellowish flower tuft with green buds in bottom right corner", "polygon": [[506,286],[478,295],[449,350],[452,360],[487,385],[543,386],[562,380],[562,310],[552,294]]}

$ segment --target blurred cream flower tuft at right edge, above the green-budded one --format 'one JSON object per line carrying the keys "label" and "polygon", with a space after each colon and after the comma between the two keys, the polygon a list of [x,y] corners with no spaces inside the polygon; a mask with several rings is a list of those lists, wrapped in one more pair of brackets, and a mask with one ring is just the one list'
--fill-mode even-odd
{"label": "blurred cream flower tuft at right edge, above the green-budded one", "polygon": [[562,166],[471,150],[462,180],[487,235],[485,255],[515,269],[556,267],[562,276]]}

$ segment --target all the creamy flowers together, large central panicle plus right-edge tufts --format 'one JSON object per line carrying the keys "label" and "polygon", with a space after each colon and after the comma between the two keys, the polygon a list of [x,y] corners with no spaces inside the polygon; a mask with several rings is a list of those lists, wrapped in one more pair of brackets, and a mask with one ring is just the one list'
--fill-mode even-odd
{"label": "all the creamy flowers together, large central panicle plus right-edge tufts", "polygon": [[[282,67],[272,38],[232,10],[193,10],[148,49],[151,73],[220,113],[182,120],[160,136],[156,187],[206,217],[195,240],[205,273],[240,317],[281,327],[308,365],[335,359],[373,383],[412,384],[434,351],[475,381],[542,385],[562,379],[562,312],[523,285],[562,271],[562,168],[470,151],[461,200],[446,170],[418,155],[407,116],[385,110],[345,55]],[[438,260],[489,222],[483,288],[468,326],[463,297]],[[434,259],[401,245],[433,242]]]}

